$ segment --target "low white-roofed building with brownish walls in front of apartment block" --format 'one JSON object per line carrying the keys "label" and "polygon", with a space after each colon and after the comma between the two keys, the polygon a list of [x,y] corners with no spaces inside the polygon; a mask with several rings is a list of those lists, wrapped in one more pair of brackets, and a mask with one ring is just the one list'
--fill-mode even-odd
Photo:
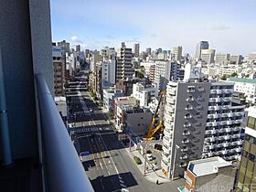
{"label": "low white-roofed building with brownish walls in front of apartment block", "polygon": [[219,156],[190,161],[184,174],[185,192],[232,191],[236,168]]}

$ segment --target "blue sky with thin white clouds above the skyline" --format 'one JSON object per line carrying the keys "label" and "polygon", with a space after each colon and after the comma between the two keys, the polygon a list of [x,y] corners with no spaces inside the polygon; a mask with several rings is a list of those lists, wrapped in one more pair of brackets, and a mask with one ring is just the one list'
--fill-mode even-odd
{"label": "blue sky with thin white clouds above the skyline", "polygon": [[194,55],[208,40],[217,52],[256,51],[256,0],[51,0],[53,41],[83,48],[171,49]]}

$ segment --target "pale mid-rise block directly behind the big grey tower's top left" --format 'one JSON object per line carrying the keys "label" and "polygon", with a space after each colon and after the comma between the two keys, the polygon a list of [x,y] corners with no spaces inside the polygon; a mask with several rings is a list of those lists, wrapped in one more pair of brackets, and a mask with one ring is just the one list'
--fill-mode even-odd
{"label": "pale mid-rise block directly behind the big grey tower's top left", "polygon": [[155,61],[155,85],[159,91],[165,90],[169,80],[178,80],[180,64],[176,61]]}

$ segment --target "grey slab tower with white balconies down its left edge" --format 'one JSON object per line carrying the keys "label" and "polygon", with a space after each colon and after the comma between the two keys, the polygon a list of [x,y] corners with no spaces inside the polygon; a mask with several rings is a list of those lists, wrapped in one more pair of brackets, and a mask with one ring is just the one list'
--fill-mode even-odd
{"label": "grey slab tower with white balconies down its left edge", "polygon": [[201,157],[210,82],[172,82],[166,89],[161,166],[165,176],[183,175],[190,160]]}

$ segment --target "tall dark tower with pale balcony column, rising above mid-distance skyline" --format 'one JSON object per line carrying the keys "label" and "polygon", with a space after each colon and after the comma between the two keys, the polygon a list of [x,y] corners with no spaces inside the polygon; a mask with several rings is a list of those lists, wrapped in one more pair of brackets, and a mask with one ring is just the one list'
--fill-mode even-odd
{"label": "tall dark tower with pale balcony column, rising above mid-distance skyline", "polygon": [[132,79],[135,74],[132,65],[132,48],[126,48],[122,43],[122,48],[117,51],[116,58],[116,82],[122,79]]}

